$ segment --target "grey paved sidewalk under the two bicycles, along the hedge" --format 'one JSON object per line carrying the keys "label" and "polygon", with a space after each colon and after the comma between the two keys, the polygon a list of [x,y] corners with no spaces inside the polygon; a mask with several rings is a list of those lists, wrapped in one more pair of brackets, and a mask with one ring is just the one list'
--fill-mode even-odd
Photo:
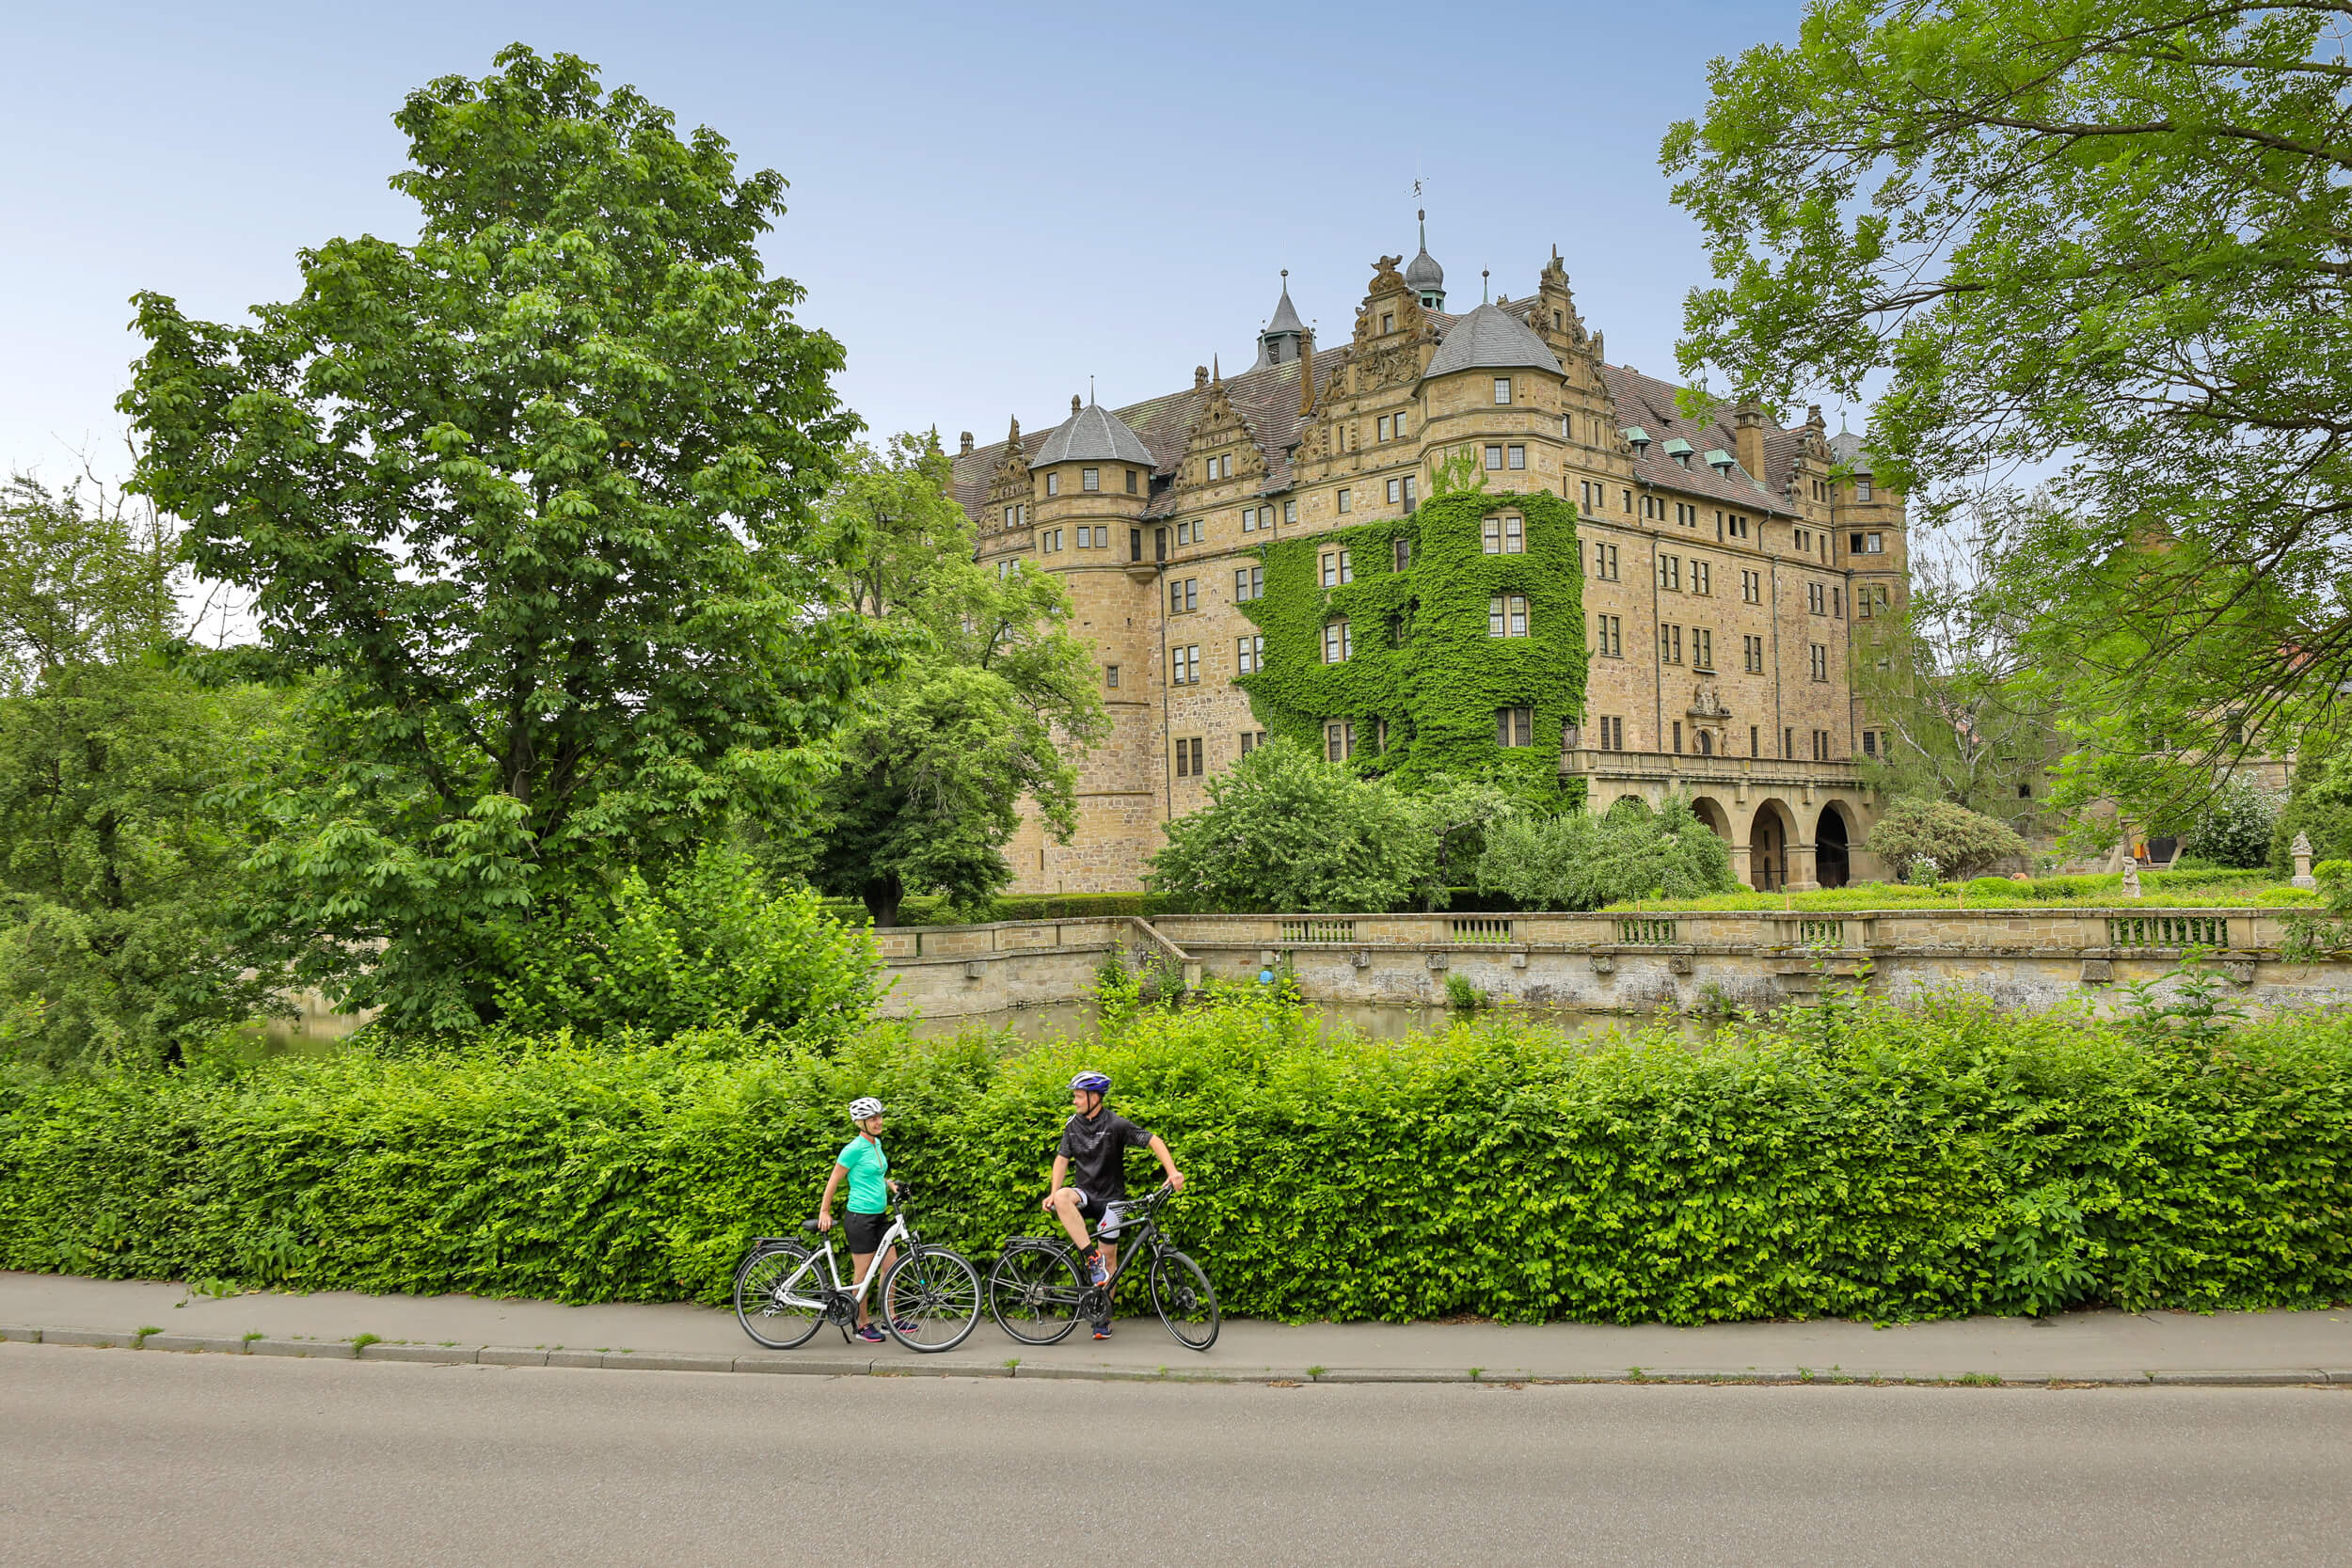
{"label": "grey paved sidewalk under the two bicycles, along the hedge", "polygon": [[1197,1354],[1157,1319],[1122,1319],[1096,1345],[1084,1328],[1051,1347],[1018,1345],[988,1316],[957,1349],[917,1356],[844,1345],[833,1328],[804,1349],[764,1352],[731,1312],[696,1305],[562,1307],[470,1295],[202,1298],[174,1284],[0,1272],[0,1338],[52,1345],[635,1366],[649,1371],[807,1371],[1044,1378],[1272,1378],[1322,1382],[1486,1382],[1731,1378],[1924,1382],[2340,1382],[2352,1385],[2352,1309],[2074,1312],[1950,1324],[1263,1324],[1225,1321]]}

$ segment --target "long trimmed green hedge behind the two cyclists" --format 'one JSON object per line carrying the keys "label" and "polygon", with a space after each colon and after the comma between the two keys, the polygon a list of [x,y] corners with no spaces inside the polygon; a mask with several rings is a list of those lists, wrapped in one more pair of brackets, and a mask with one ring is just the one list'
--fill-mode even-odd
{"label": "long trimmed green hedge behind the two cyclists", "polygon": [[830,1063],[553,1041],[9,1081],[0,1267],[717,1300],[748,1237],[811,1213],[854,1093],[891,1105],[936,1232],[985,1253],[1042,1229],[1063,1084],[1091,1063],[1174,1145],[1195,1187],[1171,1232],[1237,1314],[2352,1298],[2345,1018],[2218,1046],[1959,1001],[1799,1023],[1703,1046],[1512,1020],[1322,1041],[1296,1009],[1225,1001],[1021,1053],[875,1032]]}

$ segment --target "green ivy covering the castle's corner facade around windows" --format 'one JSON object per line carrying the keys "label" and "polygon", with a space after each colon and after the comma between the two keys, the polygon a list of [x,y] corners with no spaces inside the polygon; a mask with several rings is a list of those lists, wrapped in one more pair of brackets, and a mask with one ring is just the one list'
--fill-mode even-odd
{"label": "green ivy covering the castle's corner facade around windows", "polygon": [[[1517,512],[1526,550],[1486,555],[1482,520]],[[1411,564],[1397,569],[1397,541]],[[1348,550],[1352,578],[1322,583]],[[1355,722],[1355,764],[1418,785],[1494,769],[1529,797],[1559,790],[1559,729],[1585,708],[1585,588],[1576,508],[1545,491],[1454,491],[1409,517],[1258,548],[1265,595],[1242,609],[1265,632],[1265,668],[1240,677],[1268,733],[1324,748],[1324,724]],[[1526,637],[1491,637],[1489,602],[1524,595]],[[1345,618],[1352,651],[1324,663],[1324,625]],[[1496,743],[1496,708],[1534,708],[1534,745]],[[1378,726],[1388,722],[1388,745]]]}

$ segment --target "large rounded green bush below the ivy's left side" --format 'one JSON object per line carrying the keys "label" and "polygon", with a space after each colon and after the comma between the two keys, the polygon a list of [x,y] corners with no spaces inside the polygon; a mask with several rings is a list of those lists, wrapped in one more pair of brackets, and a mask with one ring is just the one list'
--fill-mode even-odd
{"label": "large rounded green bush below the ivy's left side", "polygon": [[1272,741],[1209,780],[1209,804],[1167,827],[1148,882],[1183,910],[1388,910],[1437,858],[1425,811]]}

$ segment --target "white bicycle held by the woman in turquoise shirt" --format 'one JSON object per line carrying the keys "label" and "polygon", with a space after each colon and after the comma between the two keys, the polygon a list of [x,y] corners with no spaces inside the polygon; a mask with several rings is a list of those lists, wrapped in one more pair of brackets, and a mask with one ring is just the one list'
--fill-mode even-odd
{"label": "white bicycle held by the woman in turquoise shirt", "polygon": [[[818,1232],[816,1220],[802,1222],[800,1229],[821,1234],[823,1246],[760,1237],[736,1265],[736,1321],[767,1349],[800,1349],[828,1321],[840,1326],[847,1342],[858,1326],[858,1302],[880,1274],[868,1265],[866,1279],[842,1284],[840,1265],[833,1260],[833,1237]],[[898,1260],[882,1274],[882,1300],[873,1316],[908,1349],[924,1354],[955,1349],[981,1321],[981,1272],[962,1253],[927,1246],[915,1234],[903,1190],[898,1218],[875,1246],[875,1258],[887,1258],[894,1246]]]}

